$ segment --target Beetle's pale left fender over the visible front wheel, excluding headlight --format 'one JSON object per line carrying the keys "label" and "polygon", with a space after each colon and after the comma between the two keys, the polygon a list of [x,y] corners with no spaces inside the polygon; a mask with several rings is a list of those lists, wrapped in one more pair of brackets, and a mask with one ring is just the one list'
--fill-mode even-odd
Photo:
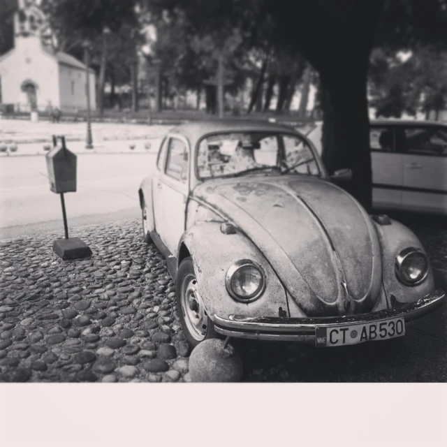
{"label": "Beetle's pale left fender over the visible front wheel, excluding headlight", "polygon": [[[207,314],[212,319],[215,314],[223,318],[230,314],[279,316],[280,307],[288,314],[286,292],[265,256],[239,230],[236,234],[223,234],[220,226],[217,222],[199,223],[184,233],[179,244],[179,247],[186,246],[191,254]],[[231,298],[225,285],[228,268],[240,259],[255,261],[262,266],[266,276],[263,295],[247,304]]]}

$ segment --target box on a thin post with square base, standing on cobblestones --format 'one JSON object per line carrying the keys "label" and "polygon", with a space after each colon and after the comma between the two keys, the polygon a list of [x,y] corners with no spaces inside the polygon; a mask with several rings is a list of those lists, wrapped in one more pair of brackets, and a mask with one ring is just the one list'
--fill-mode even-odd
{"label": "box on a thin post with square base, standing on cobblestones", "polygon": [[[59,141],[59,144],[58,144]],[[65,239],[53,243],[53,251],[62,259],[85,258],[91,249],[79,237],[68,237],[64,193],[76,191],[76,154],[65,145],[65,137],[53,135],[53,148],[45,156],[47,160],[50,190],[61,195],[62,217],[64,218]]]}

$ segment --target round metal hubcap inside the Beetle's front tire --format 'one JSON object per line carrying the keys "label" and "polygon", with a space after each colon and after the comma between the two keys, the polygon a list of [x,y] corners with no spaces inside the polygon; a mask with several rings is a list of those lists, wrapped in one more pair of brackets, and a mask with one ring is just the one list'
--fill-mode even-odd
{"label": "round metal hubcap inside the Beetle's front tire", "polygon": [[207,333],[208,317],[198,293],[197,279],[192,273],[183,277],[180,293],[186,328],[194,339],[201,342]]}

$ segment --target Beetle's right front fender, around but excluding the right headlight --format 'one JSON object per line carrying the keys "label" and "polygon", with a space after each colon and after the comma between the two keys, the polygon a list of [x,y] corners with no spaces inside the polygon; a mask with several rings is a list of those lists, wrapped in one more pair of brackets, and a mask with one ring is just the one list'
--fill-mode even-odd
{"label": "Beetle's right front fender, around but excluding the right headlight", "polygon": [[395,260],[397,254],[407,247],[425,249],[418,237],[397,221],[391,220],[390,225],[379,225],[374,222],[382,250],[383,286],[388,299],[394,295],[399,302],[414,302],[434,291],[433,272],[430,266],[427,279],[418,286],[405,286],[395,274]]}

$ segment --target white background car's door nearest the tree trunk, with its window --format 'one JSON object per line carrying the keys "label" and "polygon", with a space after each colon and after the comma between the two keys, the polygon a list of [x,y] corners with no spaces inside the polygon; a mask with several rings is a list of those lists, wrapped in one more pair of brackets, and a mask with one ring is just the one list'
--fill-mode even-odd
{"label": "white background car's door nearest the tree trunk, with its window", "polygon": [[395,126],[371,126],[372,202],[375,208],[402,206],[402,154],[396,152]]}

